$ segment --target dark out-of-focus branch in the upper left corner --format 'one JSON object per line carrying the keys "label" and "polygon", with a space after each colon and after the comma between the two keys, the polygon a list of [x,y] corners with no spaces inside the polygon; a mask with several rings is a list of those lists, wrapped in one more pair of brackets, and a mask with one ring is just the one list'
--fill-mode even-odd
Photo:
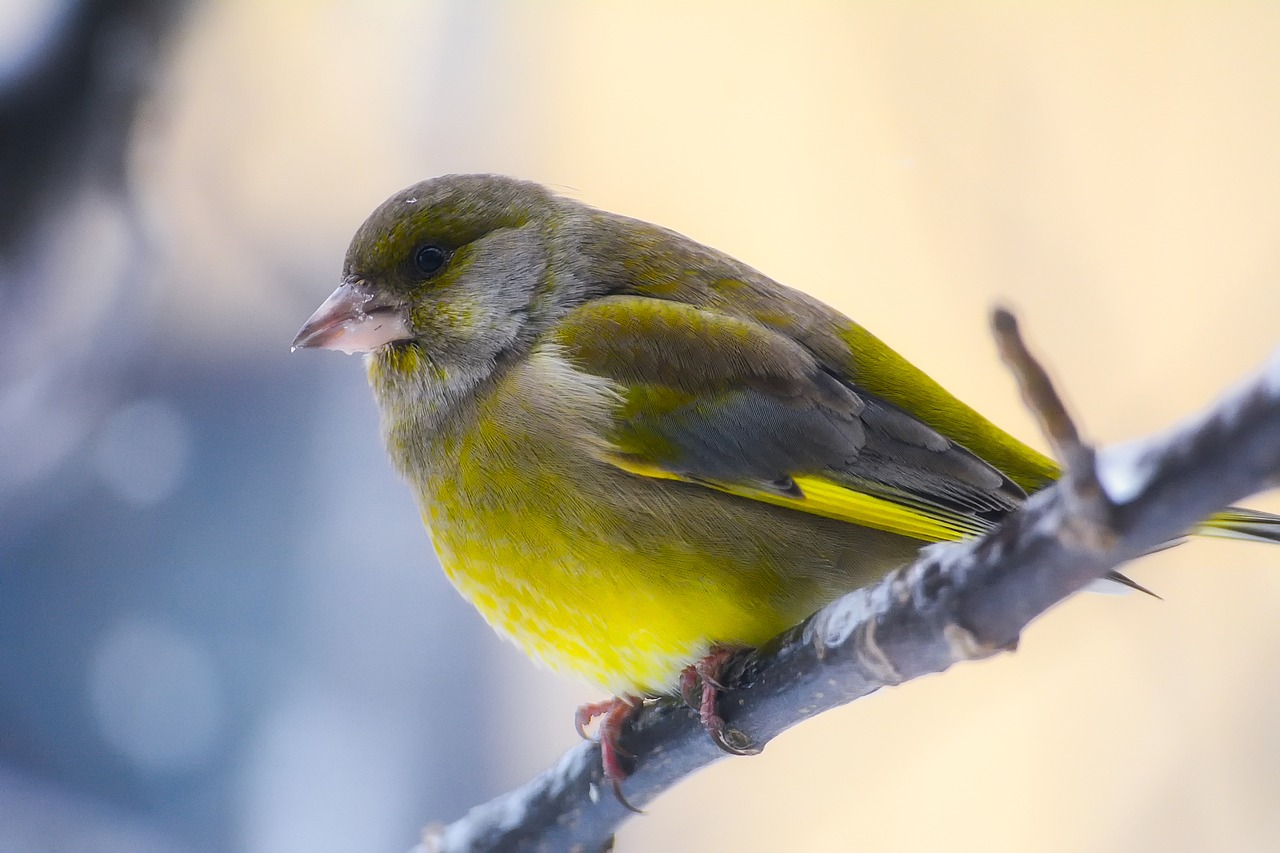
{"label": "dark out-of-focus branch in the upper left corner", "polygon": [[0,81],[0,257],[86,183],[122,191],[133,120],[187,4],[79,0]]}

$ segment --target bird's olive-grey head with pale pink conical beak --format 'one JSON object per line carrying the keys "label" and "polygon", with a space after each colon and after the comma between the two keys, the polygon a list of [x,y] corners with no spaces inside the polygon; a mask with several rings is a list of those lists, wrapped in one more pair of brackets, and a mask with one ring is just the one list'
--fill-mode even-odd
{"label": "bird's olive-grey head with pale pink conical beak", "polygon": [[492,364],[527,333],[562,205],[500,175],[444,175],[396,193],[356,232],[342,284],[293,346],[369,352],[393,369]]}

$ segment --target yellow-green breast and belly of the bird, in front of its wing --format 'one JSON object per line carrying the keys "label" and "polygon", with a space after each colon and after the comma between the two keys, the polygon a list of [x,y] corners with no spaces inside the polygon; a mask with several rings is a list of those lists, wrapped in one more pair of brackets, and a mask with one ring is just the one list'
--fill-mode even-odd
{"label": "yellow-green breast and belly of the bird, in front of its wing", "polygon": [[439,438],[422,517],[444,571],[499,633],[614,693],[655,693],[713,642],[759,643],[795,615],[769,603],[772,567],[690,532],[687,512],[737,524],[721,500],[602,461],[616,402],[605,380],[535,352]]}

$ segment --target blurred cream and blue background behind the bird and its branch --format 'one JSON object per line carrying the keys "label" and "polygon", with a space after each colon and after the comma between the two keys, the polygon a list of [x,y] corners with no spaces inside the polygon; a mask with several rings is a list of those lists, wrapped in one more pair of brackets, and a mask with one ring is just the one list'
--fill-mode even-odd
{"label": "blurred cream and blue background behind the bird and its branch", "polygon": [[[384,197],[503,172],[841,307],[1038,443],[1280,342],[1280,5],[0,4],[0,849],[406,850],[590,688],[438,570],[361,362],[288,343]],[[1254,506],[1280,510],[1275,496]],[[1275,850],[1280,549],[700,774],[620,850]]]}

